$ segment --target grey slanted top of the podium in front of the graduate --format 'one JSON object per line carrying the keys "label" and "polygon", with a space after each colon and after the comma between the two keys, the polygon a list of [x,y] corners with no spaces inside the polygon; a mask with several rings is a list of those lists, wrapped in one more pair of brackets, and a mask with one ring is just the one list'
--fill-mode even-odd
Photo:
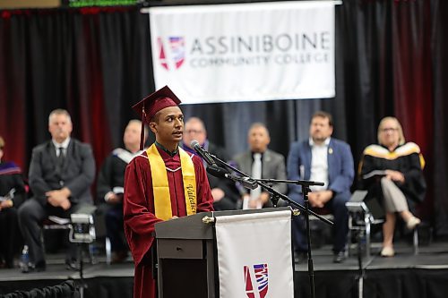
{"label": "grey slanted top of the podium in front of the graduate", "polygon": [[221,217],[248,213],[264,213],[272,211],[290,210],[289,207],[250,209],[250,210],[228,210],[202,212],[188,217],[179,217],[159,222],[155,225],[156,238],[158,239],[213,239],[213,223],[205,224],[203,217]]}

